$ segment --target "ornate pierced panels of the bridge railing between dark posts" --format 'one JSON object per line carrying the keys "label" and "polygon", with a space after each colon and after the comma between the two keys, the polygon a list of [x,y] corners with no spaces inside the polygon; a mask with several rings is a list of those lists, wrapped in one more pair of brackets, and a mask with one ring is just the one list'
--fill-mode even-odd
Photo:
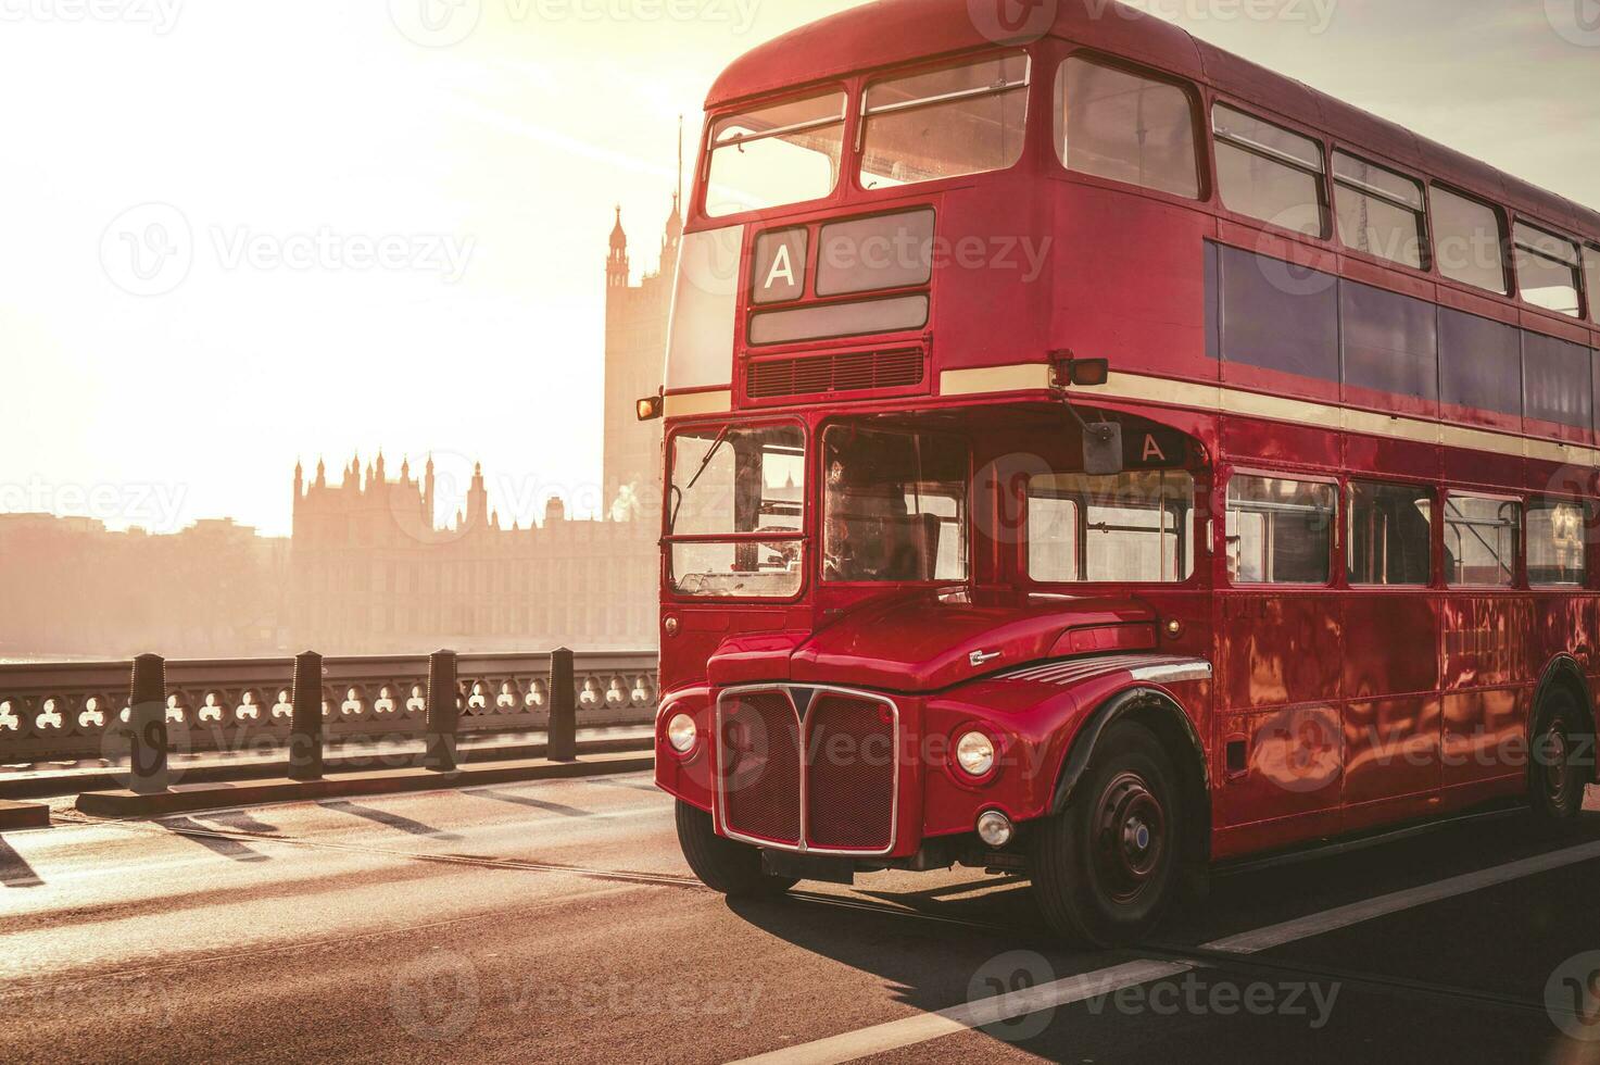
{"label": "ornate pierced panels of the bridge railing between dark posts", "polygon": [[[328,740],[422,735],[427,655],[326,658]],[[0,764],[126,754],[130,663],[0,665]],[[576,652],[578,725],[654,719],[656,652]],[[550,653],[459,655],[461,733],[549,724]],[[293,658],[166,663],[168,743],[178,754],[270,753],[293,721]],[[122,727],[118,727],[122,725]]]}

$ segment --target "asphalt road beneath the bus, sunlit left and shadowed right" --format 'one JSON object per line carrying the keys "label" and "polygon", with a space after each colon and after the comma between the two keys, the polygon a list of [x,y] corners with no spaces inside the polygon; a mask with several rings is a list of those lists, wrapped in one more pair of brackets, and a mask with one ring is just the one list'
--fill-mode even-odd
{"label": "asphalt road beneath the bus, sunlit left and shadowed right", "polygon": [[730,905],[645,777],[58,825],[0,841],[0,1060],[1594,1062],[1597,884],[1499,815],[1072,953],[973,871]]}

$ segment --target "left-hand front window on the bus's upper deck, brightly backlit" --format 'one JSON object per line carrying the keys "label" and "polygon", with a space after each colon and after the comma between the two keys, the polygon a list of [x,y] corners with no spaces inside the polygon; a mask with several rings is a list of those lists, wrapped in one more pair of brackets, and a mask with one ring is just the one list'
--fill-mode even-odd
{"label": "left-hand front window on the bus's upper deck, brightly backlit", "polygon": [[725,218],[821,200],[838,187],[845,93],[717,119],[710,133],[706,215]]}

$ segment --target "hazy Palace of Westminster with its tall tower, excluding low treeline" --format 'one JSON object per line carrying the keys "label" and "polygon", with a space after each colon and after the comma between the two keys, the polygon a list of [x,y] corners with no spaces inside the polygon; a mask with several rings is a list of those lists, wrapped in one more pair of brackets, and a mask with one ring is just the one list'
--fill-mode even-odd
{"label": "hazy Palace of Westminster with its tall tower, excluding low treeline", "polygon": [[618,208],[605,264],[606,508],[573,520],[552,500],[544,520],[506,528],[490,509],[482,468],[453,522],[437,516],[432,460],[390,480],[384,460],[352,461],[339,484],[318,466],[294,472],[293,625],[296,645],[325,653],[526,650],[566,644],[637,649],[656,642],[661,423],[634,402],[661,388],[672,277],[683,218],[678,197],[654,271],[632,282]]}

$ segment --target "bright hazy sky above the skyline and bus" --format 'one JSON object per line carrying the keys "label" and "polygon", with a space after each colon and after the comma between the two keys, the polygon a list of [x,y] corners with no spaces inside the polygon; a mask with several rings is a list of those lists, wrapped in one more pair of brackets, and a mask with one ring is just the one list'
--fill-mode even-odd
{"label": "bright hazy sky above the skyline and bus", "polygon": [[[595,503],[603,258],[850,0],[0,0],[0,511],[290,527],[294,460]],[[1600,205],[1600,0],[1146,0]],[[133,239],[133,243],[130,243]]]}

